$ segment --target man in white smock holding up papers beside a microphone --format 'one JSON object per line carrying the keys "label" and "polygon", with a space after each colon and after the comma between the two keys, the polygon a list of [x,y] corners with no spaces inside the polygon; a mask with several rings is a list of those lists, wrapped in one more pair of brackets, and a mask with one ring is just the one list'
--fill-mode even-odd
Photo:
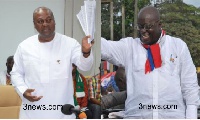
{"label": "man in white smock holding up papers beside a microphone", "polygon": [[13,86],[22,99],[20,118],[72,119],[61,106],[74,105],[72,63],[83,70],[93,64],[89,36],[80,45],[75,39],[55,32],[53,12],[39,7],[33,13],[39,34],[21,42],[14,55]]}

